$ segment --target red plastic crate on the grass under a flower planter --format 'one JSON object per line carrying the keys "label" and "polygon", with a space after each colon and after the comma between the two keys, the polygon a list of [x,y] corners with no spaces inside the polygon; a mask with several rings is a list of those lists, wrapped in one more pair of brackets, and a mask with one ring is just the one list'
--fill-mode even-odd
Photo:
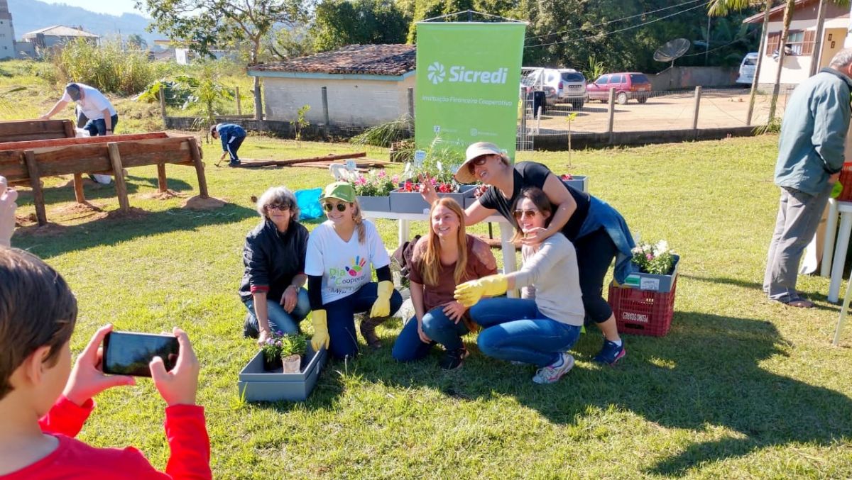
{"label": "red plastic crate on the grass under a flower planter", "polygon": [[619,333],[661,337],[669,333],[675,313],[677,278],[671,292],[652,292],[609,285],[609,305],[613,307]]}

